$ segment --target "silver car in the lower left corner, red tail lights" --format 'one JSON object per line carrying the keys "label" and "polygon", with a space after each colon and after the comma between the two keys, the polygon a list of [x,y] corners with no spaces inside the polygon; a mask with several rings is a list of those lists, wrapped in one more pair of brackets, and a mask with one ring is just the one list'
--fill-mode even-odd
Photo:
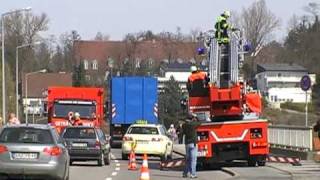
{"label": "silver car in the lower left corner, red tail lights", "polygon": [[4,126],[0,133],[0,179],[69,179],[69,155],[48,125]]}

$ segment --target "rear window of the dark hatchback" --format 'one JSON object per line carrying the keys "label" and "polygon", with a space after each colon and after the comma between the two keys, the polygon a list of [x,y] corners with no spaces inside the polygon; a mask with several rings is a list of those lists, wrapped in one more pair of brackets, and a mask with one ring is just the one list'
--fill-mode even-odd
{"label": "rear window of the dark hatchback", "polygon": [[96,133],[93,128],[67,128],[63,138],[96,139]]}

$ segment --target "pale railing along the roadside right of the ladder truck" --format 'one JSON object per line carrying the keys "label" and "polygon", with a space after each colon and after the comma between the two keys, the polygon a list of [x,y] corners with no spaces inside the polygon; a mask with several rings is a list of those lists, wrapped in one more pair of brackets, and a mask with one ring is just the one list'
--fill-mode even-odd
{"label": "pale railing along the roadside right of the ladder truck", "polygon": [[295,151],[312,151],[312,127],[270,125],[268,138],[271,147]]}

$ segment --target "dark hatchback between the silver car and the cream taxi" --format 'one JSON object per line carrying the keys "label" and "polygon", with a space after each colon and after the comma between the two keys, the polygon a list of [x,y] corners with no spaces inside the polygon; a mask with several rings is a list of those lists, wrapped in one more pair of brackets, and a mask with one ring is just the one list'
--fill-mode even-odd
{"label": "dark hatchback between the silver car and the cream taxi", "polygon": [[100,128],[67,127],[62,137],[67,144],[70,164],[73,161],[90,160],[97,160],[99,166],[110,164],[110,136],[106,136]]}

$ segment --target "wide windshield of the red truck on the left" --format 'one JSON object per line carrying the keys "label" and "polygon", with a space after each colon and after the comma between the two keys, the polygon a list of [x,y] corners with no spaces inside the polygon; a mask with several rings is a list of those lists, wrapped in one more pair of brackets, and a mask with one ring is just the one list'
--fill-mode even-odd
{"label": "wide windshield of the red truck on the left", "polygon": [[94,104],[54,104],[54,117],[68,117],[69,112],[78,112],[80,118],[95,118],[96,106]]}

